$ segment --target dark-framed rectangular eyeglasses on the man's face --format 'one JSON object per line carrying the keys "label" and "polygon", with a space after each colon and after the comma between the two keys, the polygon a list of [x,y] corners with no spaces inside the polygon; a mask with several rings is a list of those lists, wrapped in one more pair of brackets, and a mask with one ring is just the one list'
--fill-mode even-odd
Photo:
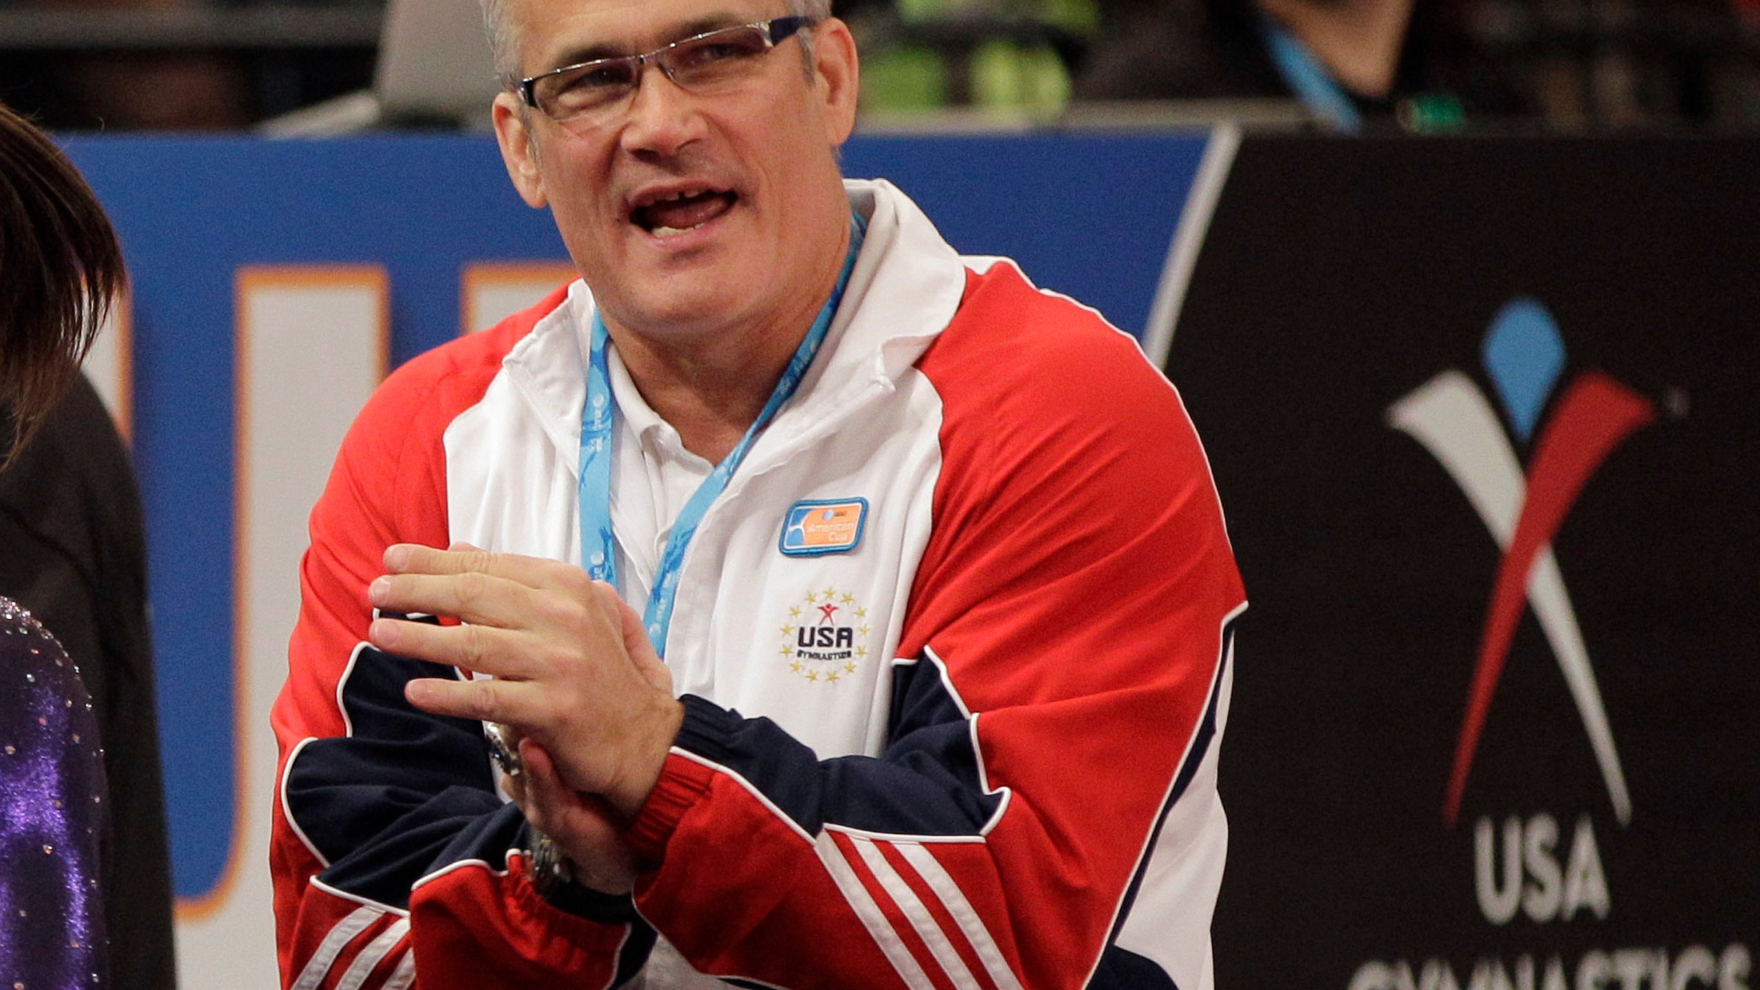
{"label": "dark-framed rectangular eyeglasses on the man's face", "polygon": [[563,65],[521,79],[519,97],[556,123],[567,123],[621,104],[641,86],[649,62],[679,88],[713,95],[750,79],[759,56],[815,23],[813,18],[773,18],[704,32],[642,55]]}

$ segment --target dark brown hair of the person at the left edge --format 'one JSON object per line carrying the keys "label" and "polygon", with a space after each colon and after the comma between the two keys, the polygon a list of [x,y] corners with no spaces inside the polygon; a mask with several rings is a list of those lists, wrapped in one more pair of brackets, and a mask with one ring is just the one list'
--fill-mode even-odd
{"label": "dark brown hair of the person at the left edge", "polygon": [[127,284],[92,187],[42,130],[0,104],[0,463],[74,377]]}

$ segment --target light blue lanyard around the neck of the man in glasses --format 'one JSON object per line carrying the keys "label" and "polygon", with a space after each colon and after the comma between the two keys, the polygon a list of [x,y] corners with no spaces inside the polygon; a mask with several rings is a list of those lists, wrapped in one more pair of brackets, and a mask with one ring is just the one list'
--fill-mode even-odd
{"label": "light blue lanyard around the neck of the man in glasses", "polygon": [[[806,377],[806,370],[813,366],[818,345],[825,342],[831,319],[838,314],[843,291],[850,284],[850,271],[855,270],[855,255],[862,248],[866,233],[868,222],[861,215],[854,215],[848,257],[843,259],[838,285],[832,289],[831,298],[825,299],[825,307],[818,310],[818,319],[813,321],[813,328],[806,331],[801,347],[788,359],[781,380],[776,382],[776,389],[771,393],[769,402],[764,403],[764,410],[759,412],[757,421],[739,439],[739,444],[722,458],[722,463],[715,465],[709,477],[702,479],[702,484],[685,502],[685,509],[679,511],[678,520],[672,523],[672,536],[665,543],[665,553],[660,555],[660,569],[655,573],[655,587],[648,594],[648,610],[642,615],[642,622],[648,625],[648,639],[653,641],[658,654],[665,654],[665,634],[672,625],[672,601],[678,597],[678,573],[685,564],[685,550],[690,548],[690,539],[697,536],[697,525],[702,523],[702,516],[708,514],[709,506],[720,499],[734,472],[739,470],[739,462],[746,458],[752,440],[769,425],[776,410],[788,402],[794,389],[801,386],[801,379]],[[611,437],[616,430],[618,402],[611,395],[611,365],[605,358],[607,338],[605,321],[595,312],[593,344],[586,366],[586,403],[581,407],[581,565],[595,580],[607,581],[616,588],[618,544],[611,532]]]}

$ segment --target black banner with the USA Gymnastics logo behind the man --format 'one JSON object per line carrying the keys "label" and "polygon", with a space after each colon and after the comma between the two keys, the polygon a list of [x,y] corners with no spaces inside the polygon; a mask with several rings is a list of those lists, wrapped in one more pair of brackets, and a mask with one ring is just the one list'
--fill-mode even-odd
{"label": "black banner with the USA Gymnastics logo behind the man", "polygon": [[1218,985],[1760,983],[1760,143],[1248,139]]}

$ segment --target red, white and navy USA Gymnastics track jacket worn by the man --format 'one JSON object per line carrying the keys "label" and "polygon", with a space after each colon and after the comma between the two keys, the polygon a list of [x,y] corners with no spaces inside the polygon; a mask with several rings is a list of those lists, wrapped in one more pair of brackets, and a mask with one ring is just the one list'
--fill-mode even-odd
{"label": "red, white and navy USA Gymnastics track jacket worn by the man", "polygon": [[387,544],[579,557],[591,296],[361,412],[273,713],[283,985],[1211,985],[1244,599],[1179,396],[1095,312],[848,187],[869,227],[831,336],[679,574],[686,715],[634,900],[537,897],[480,724],[403,701],[456,671],[366,645]]}

